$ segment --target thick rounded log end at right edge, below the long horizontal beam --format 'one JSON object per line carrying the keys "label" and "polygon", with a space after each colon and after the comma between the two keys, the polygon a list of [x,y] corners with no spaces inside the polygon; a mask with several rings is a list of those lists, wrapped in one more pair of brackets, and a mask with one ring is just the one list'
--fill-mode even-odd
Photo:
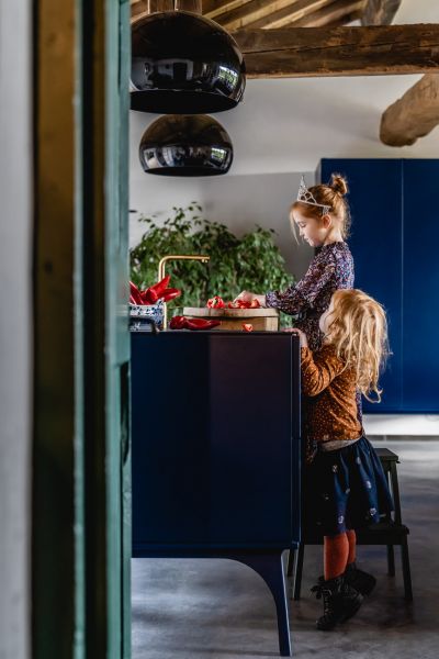
{"label": "thick rounded log end at right edge, below the long horizontal beam", "polygon": [[439,124],[439,75],[424,76],[381,118],[380,139],[389,146],[407,146]]}

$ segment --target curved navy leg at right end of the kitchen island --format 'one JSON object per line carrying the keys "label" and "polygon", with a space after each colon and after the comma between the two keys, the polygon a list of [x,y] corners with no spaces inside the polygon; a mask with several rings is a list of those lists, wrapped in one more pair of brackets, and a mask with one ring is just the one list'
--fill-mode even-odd
{"label": "curved navy leg at right end of the kitchen island", "polygon": [[280,654],[282,657],[291,657],[290,621],[282,551],[236,554],[229,555],[229,557],[254,569],[267,583],[273,595],[278,614]]}

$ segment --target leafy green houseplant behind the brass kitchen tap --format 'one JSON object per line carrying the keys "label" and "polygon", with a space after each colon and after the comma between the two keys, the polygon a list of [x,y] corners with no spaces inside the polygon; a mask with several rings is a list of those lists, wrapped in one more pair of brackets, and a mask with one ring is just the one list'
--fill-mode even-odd
{"label": "leafy green houseplant behind the brass kitchen tap", "polygon": [[158,264],[170,254],[206,254],[207,265],[198,261],[171,261],[167,272],[170,286],[182,294],[169,303],[172,310],[182,306],[204,306],[215,294],[233,300],[241,290],[263,292],[290,286],[284,259],[273,242],[274,231],[256,228],[238,237],[224,224],[202,216],[202,208],[192,202],[187,208],[172,209],[171,215],[158,225],[155,216],[140,215],[146,231],[131,249],[131,278],[139,288],[157,281]]}

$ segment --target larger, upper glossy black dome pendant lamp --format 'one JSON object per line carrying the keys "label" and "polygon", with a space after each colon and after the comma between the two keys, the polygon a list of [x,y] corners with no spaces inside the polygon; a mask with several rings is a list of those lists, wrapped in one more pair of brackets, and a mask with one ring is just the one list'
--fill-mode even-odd
{"label": "larger, upper glossy black dome pendant lamp", "polygon": [[131,107],[198,114],[235,108],[246,85],[243,55],[217,23],[185,11],[132,26]]}

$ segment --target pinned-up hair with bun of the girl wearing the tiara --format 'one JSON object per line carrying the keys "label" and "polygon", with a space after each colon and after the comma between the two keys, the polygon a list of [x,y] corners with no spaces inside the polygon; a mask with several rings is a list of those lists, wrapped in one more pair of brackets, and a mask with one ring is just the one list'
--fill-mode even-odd
{"label": "pinned-up hair with bun of the girl wearing the tiara", "polygon": [[[330,182],[319,186],[313,186],[308,188],[317,203],[329,206],[329,214],[339,222],[340,232],[344,239],[349,237],[350,228],[350,212],[348,202],[345,196],[348,193],[348,181],[341,174],[333,174],[330,176]],[[319,206],[304,203],[303,201],[295,201],[290,208],[291,224],[295,233],[295,222],[293,217],[294,211],[300,211],[305,217],[313,217],[319,220],[323,215]]]}

